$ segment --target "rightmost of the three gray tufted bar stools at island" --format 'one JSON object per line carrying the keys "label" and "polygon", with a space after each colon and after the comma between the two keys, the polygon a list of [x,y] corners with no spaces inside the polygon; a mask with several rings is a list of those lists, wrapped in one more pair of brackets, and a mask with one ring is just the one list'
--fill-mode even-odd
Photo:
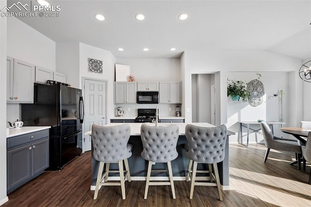
{"label": "rightmost of the three gray tufted bar stools at island", "polygon": [[[186,156],[190,159],[186,178],[187,181],[191,178],[190,199],[193,197],[194,186],[216,186],[219,199],[222,201],[223,194],[217,163],[223,161],[225,158],[226,126],[200,127],[187,124],[185,133],[188,141],[188,144],[185,145]],[[192,163],[193,170],[191,171]],[[197,171],[198,163],[208,164],[208,171]],[[196,173],[209,173],[209,178],[206,179],[209,182],[196,181]]]}

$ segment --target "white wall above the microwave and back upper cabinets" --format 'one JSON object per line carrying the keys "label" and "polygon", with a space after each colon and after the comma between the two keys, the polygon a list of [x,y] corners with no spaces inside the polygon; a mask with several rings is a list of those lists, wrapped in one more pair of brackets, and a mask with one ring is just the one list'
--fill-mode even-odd
{"label": "white wall above the microwave and back upper cabinets", "polygon": [[181,81],[179,58],[118,59],[117,64],[129,65],[135,81]]}

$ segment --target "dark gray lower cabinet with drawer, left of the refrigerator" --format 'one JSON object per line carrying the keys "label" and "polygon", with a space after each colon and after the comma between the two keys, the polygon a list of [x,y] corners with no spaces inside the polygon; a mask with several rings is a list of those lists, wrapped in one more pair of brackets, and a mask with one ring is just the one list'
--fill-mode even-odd
{"label": "dark gray lower cabinet with drawer, left of the refrigerator", "polygon": [[49,167],[49,130],[7,138],[7,193]]}

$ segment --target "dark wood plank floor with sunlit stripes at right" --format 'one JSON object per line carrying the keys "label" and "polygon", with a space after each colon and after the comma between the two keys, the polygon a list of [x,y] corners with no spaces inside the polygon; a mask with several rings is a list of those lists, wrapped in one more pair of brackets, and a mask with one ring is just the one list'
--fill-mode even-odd
{"label": "dark wood plank floor with sunlit stripes at right", "polygon": [[62,171],[45,172],[34,180],[8,195],[3,206],[108,206],[108,207],[151,207],[151,206],[311,206],[311,185],[307,184],[307,172],[289,165],[294,154],[270,151],[263,163],[265,147],[250,144],[244,147],[230,144],[230,188],[223,191],[224,201],[218,200],[215,187],[196,186],[193,199],[189,199],[190,182],[175,181],[176,199],[172,198],[169,186],[151,186],[147,200],[143,199],[145,182],[125,183],[126,199],[121,199],[121,188],[108,186],[99,191],[93,200],[90,191],[90,152],[76,158]]}

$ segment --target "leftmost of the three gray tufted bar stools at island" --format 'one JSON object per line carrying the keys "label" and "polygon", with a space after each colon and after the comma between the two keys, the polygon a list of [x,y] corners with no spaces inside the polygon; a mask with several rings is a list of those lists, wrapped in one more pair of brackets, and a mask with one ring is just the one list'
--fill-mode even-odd
{"label": "leftmost of the three gray tufted bar stools at island", "polygon": [[[131,182],[127,161],[127,158],[132,155],[131,151],[133,148],[133,145],[127,143],[130,134],[131,127],[129,124],[117,126],[92,125],[93,157],[100,162],[94,199],[97,199],[100,186],[121,186],[122,199],[125,199],[125,179],[127,178],[128,182]],[[123,170],[123,160],[125,171]],[[109,171],[109,164],[116,162],[119,164],[119,171]],[[103,174],[104,164],[106,164],[106,168]],[[109,173],[120,173],[120,182],[108,182]]]}

